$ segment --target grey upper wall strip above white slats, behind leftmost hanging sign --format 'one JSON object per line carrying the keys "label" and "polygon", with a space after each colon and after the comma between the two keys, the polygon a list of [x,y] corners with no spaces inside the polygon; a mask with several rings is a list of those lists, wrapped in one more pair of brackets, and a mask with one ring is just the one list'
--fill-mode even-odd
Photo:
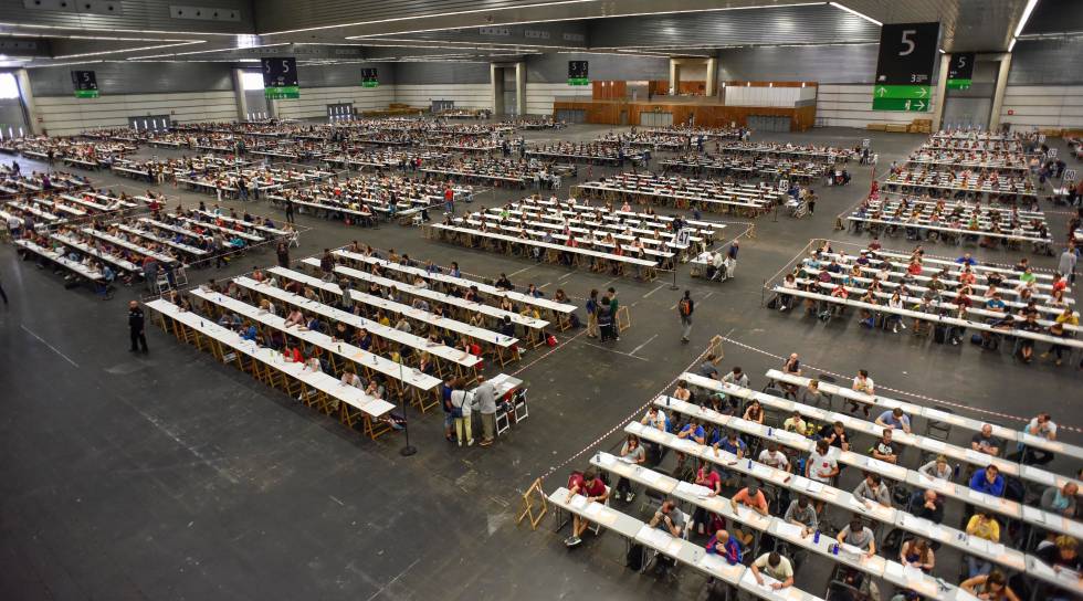
{"label": "grey upper wall strip above white slats, behind leftmost hanging sign", "polygon": [[102,95],[233,89],[229,63],[97,63],[30,70],[35,96],[71,96],[73,68],[97,76]]}

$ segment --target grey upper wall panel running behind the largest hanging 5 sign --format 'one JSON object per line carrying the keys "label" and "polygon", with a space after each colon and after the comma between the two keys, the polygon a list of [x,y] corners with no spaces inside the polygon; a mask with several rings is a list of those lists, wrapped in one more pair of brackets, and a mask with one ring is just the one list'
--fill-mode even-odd
{"label": "grey upper wall panel running behind the largest hanging 5 sign", "polygon": [[[871,84],[880,44],[764,46],[718,51],[718,81]],[[933,67],[933,81],[939,71]]]}

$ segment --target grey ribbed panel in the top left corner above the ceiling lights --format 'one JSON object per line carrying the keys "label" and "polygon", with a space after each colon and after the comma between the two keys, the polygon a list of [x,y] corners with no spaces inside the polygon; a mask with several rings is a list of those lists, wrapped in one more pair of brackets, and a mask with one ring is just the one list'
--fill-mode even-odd
{"label": "grey ribbed panel in the top left corner above the ceiling lights", "polygon": [[[206,31],[213,33],[253,33],[252,2],[249,0],[114,0],[118,14],[76,12],[75,10],[30,9],[23,0],[0,0],[3,21],[36,25],[126,31]],[[74,2],[69,2],[74,7]],[[240,12],[239,21],[174,19],[170,6],[224,9]]]}

